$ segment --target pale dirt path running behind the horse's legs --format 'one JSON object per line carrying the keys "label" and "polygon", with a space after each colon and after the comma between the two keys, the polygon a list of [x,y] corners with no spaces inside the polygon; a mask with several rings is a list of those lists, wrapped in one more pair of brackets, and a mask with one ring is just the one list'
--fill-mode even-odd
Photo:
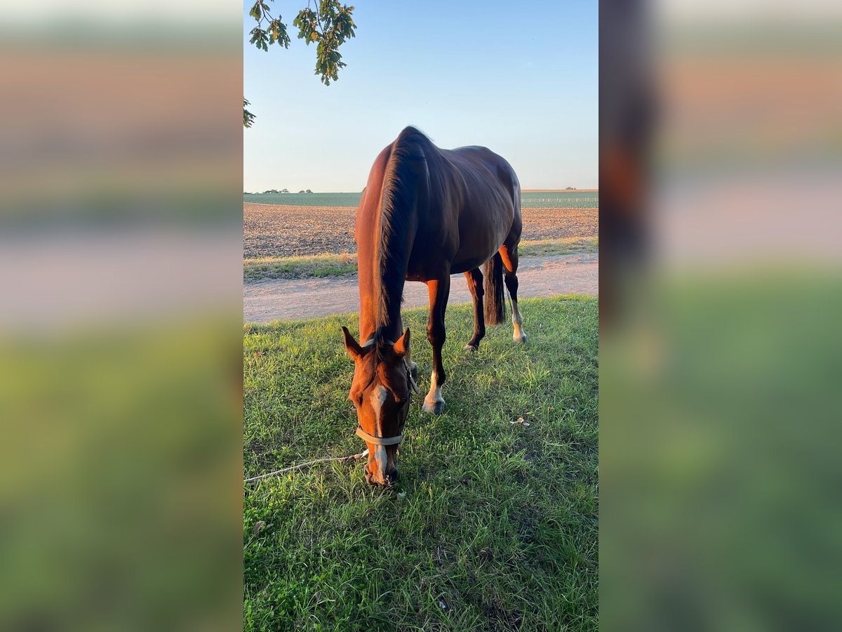
{"label": "pale dirt path running behind the horse's legs", "polygon": [[[552,297],[557,294],[590,294],[599,290],[599,254],[564,254],[520,260],[519,297]],[[426,307],[424,283],[407,283],[403,292],[406,308]],[[451,277],[450,305],[470,303],[465,277]],[[360,308],[356,276],[320,279],[258,281],[242,292],[242,318],[247,323],[281,319],[307,319]]]}

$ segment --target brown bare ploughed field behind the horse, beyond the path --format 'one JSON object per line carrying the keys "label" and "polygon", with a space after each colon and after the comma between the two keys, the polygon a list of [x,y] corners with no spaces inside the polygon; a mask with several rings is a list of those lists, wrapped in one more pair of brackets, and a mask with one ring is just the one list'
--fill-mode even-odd
{"label": "brown bare ploughed field behind the horse, beyond the path", "polygon": [[[355,252],[353,206],[243,204],[243,256],[290,257]],[[524,239],[592,237],[599,209],[525,208]]]}

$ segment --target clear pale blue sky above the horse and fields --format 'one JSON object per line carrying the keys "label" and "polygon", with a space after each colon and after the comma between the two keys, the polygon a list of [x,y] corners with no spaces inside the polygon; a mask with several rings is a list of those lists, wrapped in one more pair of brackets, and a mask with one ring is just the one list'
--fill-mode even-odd
{"label": "clear pale blue sky above the horse and fields", "polygon": [[596,0],[352,1],[348,66],[328,87],[292,26],[305,2],[274,0],[289,49],[246,41],[244,94],[258,118],[243,131],[243,190],[362,190],[408,125],[439,147],[489,147],[525,189],[598,185]]}

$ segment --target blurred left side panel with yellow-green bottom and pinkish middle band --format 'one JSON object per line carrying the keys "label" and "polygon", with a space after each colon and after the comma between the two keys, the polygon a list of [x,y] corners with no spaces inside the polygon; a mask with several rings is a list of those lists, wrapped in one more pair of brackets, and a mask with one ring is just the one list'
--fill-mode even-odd
{"label": "blurred left side panel with yellow-green bottom and pinkish middle band", "polygon": [[237,629],[242,8],[0,27],[0,629]]}

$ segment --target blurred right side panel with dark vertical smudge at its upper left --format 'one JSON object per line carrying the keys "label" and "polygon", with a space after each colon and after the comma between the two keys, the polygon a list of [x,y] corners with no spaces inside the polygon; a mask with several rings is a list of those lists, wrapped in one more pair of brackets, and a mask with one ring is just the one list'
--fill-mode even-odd
{"label": "blurred right side panel with dark vertical smudge at its upper left", "polygon": [[842,8],[600,3],[600,623],[838,629]]}

